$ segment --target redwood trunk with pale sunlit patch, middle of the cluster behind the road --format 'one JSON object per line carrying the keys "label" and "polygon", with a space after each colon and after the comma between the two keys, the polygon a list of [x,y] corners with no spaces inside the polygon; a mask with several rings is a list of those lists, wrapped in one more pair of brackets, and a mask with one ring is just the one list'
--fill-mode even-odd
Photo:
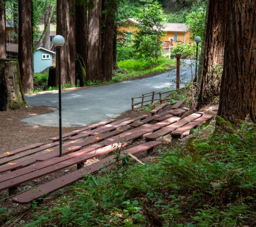
{"label": "redwood trunk with pale sunlit patch, middle of the cluster behind the road", "polygon": [[88,14],[88,59],[87,78],[89,81],[103,81],[101,70],[101,0],[93,0],[95,7]]}

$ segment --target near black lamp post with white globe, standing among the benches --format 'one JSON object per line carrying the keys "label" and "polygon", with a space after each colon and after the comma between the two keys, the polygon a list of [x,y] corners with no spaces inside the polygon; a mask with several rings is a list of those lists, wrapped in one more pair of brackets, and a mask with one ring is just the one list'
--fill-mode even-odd
{"label": "near black lamp post with white globe, standing among the benches", "polygon": [[65,39],[59,34],[52,40],[54,46],[58,49],[58,67],[59,67],[59,149],[60,157],[62,156],[62,133],[61,133],[61,74],[60,74],[60,47],[65,44]]}

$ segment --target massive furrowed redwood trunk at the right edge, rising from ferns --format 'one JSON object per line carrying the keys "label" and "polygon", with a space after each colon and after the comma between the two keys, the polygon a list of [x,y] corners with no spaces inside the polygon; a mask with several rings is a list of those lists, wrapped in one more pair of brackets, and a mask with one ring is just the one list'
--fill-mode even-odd
{"label": "massive furrowed redwood trunk at the right edge, rising from ferns", "polygon": [[248,117],[256,123],[256,2],[228,2],[218,115],[227,120]]}

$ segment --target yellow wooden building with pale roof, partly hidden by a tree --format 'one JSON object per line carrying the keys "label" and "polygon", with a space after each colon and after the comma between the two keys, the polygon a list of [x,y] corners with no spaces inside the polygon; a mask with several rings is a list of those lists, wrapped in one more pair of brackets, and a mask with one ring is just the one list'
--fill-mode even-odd
{"label": "yellow wooden building with pale roof, partly hidden by a tree", "polygon": [[[126,39],[133,39],[134,34],[138,30],[135,27],[137,21],[133,18],[128,18],[123,20],[123,23],[127,24],[127,26],[119,26],[118,30],[126,33]],[[170,45],[176,46],[181,42],[192,44],[190,40],[191,33],[185,24],[166,23],[163,30],[166,31],[166,34],[160,40],[163,41],[165,49],[169,49]]]}

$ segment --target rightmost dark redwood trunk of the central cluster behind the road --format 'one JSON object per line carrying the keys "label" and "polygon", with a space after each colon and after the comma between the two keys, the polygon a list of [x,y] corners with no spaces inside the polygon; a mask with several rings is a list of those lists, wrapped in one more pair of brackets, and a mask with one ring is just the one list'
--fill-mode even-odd
{"label": "rightmost dark redwood trunk of the central cluster behind the road", "polygon": [[[115,3],[102,0],[102,11],[116,11],[116,8]],[[110,81],[113,75],[114,18],[108,12],[102,15],[102,25],[102,72],[104,79]]]}

